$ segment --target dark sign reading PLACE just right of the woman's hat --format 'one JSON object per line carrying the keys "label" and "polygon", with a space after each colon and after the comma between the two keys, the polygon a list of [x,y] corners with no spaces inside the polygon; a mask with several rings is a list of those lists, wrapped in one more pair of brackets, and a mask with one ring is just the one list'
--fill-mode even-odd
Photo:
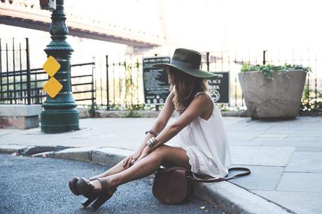
{"label": "dark sign reading PLACE just right of the woman's hat", "polygon": [[229,101],[230,101],[229,71],[211,72],[211,73],[216,74],[214,78],[207,78],[211,99],[216,104],[229,104]]}

